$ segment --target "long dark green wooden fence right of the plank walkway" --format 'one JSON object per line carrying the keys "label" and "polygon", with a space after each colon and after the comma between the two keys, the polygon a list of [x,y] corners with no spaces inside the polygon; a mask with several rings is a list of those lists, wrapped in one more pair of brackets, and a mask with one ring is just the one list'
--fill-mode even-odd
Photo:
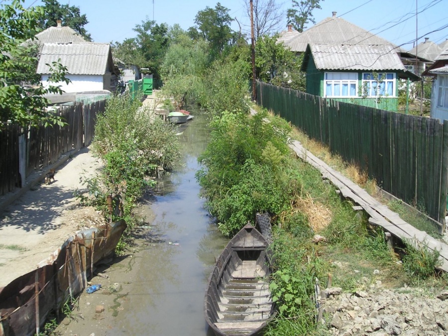
{"label": "long dark green wooden fence right of the plank walkway", "polygon": [[336,102],[257,82],[258,105],[358,165],[385,191],[444,224],[448,121]]}

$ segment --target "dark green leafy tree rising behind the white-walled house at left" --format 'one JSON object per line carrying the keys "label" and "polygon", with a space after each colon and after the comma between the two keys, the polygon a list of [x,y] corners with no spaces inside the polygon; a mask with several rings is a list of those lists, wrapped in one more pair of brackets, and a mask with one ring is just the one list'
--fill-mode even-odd
{"label": "dark green leafy tree rising behind the white-walled house at left", "polygon": [[52,27],[57,20],[62,20],[64,26],[72,28],[87,41],[92,41],[92,37],[84,28],[89,21],[86,14],[81,15],[79,7],[61,5],[58,0],[43,0],[43,3],[44,15],[39,19],[39,26],[42,29]]}

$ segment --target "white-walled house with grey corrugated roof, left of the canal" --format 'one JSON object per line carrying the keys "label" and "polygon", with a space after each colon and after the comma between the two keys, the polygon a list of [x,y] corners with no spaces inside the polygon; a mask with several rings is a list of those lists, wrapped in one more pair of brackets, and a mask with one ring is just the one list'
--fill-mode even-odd
{"label": "white-walled house with grey corrugated roof, left of the canal", "polygon": [[65,92],[116,90],[119,72],[112,61],[110,44],[44,43],[37,65],[37,73],[41,75],[44,87],[50,85],[48,78],[51,72],[48,64],[55,61],[67,68],[66,78],[71,83],[57,83]]}

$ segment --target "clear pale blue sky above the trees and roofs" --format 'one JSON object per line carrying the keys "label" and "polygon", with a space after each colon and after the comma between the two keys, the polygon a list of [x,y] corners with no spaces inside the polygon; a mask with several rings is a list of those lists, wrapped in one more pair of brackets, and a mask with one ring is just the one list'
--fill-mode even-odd
{"label": "clear pale blue sky above the trees and roofs", "polygon": [[[221,0],[236,18],[242,29],[249,32],[250,21],[246,13],[245,0]],[[246,0],[248,1],[248,0]],[[259,0],[266,1],[266,0]],[[10,2],[0,0],[1,2]],[[59,0],[59,3],[75,5],[81,14],[86,14],[89,23],[85,26],[95,42],[122,42],[135,36],[133,28],[146,19],[157,23],[175,23],[187,30],[195,24],[198,11],[207,6],[215,7],[218,1],[211,0]],[[291,0],[279,0],[285,10],[292,7]],[[378,34],[395,45],[413,48],[416,37],[418,43],[429,37],[435,43],[448,38],[448,0],[321,0],[322,9],[315,9],[316,22],[337,16],[361,28]],[[25,7],[39,5],[40,0],[25,0]],[[416,19],[416,9],[418,12]],[[407,19],[407,20],[406,20]],[[279,22],[279,31],[286,29],[286,13]],[[309,24],[308,27],[311,27]],[[447,27],[445,27],[447,26]],[[232,29],[239,30],[236,21]],[[439,30],[432,32],[434,30]]]}

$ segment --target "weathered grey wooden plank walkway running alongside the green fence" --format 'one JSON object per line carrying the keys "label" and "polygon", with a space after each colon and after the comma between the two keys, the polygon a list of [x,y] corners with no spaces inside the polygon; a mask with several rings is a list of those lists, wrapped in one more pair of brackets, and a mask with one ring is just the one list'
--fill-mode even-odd
{"label": "weathered grey wooden plank walkway running alongside the green fence", "polygon": [[425,231],[420,231],[403,221],[397,213],[375,200],[364,189],[306,150],[299,141],[292,140],[289,146],[300,158],[319,169],[323,178],[330,180],[339,189],[342,196],[361,206],[370,216],[370,224],[382,226],[385,231],[401,240],[408,240],[416,248],[424,245],[433,251],[439,251],[441,260],[439,268],[448,272],[448,245],[446,243],[440,242]]}

